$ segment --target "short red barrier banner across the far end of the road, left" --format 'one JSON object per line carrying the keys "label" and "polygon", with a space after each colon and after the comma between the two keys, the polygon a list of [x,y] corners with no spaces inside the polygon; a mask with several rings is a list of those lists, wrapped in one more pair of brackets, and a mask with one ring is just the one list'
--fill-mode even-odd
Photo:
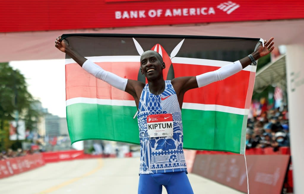
{"label": "short red barrier banner across the far end of the road, left", "polygon": [[45,162],[60,162],[74,159],[84,158],[84,151],[57,151],[57,152],[43,152],[43,159]]}

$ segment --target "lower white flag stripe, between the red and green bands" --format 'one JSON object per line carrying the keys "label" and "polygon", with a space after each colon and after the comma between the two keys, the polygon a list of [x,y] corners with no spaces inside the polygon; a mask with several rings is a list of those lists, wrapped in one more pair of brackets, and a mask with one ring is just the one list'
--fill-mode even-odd
{"label": "lower white flag stripe, between the red and green bands", "polygon": [[[134,100],[109,100],[109,99],[84,98],[84,97],[71,98],[69,100],[66,100],[67,106],[77,103],[136,107]],[[240,114],[240,115],[248,115],[249,113],[249,109],[228,107],[217,104],[197,104],[197,103],[184,102],[182,108],[200,110],[200,111],[220,111],[220,112]]]}

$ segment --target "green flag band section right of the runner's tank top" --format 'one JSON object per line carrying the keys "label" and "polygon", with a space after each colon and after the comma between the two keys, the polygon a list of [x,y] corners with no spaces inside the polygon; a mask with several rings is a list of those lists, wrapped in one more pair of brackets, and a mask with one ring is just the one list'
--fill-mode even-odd
{"label": "green flag band section right of the runner's tank top", "polygon": [[240,153],[240,142],[245,141],[241,139],[246,130],[242,130],[244,117],[247,115],[183,109],[184,148]]}

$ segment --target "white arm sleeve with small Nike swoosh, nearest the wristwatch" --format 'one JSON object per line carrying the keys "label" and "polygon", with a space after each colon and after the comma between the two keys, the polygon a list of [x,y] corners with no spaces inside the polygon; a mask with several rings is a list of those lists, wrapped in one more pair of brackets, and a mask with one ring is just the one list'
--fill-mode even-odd
{"label": "white arm sleeve with small Nike swoosh, nearest the wristwatch", "polygon": [[243,67],[240,61],[230,63],[219,68],[218,70],[203,73],[201,75],[196,76],[197,85],[199,87],[203,87],[208,85],[209,83],[226,79],[227,77],[232,76],[233,74],[241,71],[242,69]]}

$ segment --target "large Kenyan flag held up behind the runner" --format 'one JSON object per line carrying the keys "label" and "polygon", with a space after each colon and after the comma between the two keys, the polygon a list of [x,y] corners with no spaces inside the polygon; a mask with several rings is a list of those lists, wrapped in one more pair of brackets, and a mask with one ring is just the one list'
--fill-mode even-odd
{"label": "large Kenyan flag held up behind the runner", "polygon": [[[120,77],[146,82],[140,55],[160,53],[164,79],[196,76],[252,53],[259,39],[138,35],[64,34],[82,56]],[[225,80],[185,94],[182,107],[184,148],[244,154],[245,130],[255,79],[247,66]],[[66,56],[67,124],[72,143],[104,139],[139,144],[133,97],[83,70]]]}

